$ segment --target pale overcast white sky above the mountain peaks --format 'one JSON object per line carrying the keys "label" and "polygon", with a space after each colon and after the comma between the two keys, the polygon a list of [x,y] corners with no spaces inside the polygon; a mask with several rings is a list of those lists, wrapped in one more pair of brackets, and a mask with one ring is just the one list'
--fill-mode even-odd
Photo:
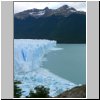
{"label": "pale overcast white sky above the mountain peaks", "polygon": [[86,2],[14,2],[14,13],[33,8],[43,9],[49,7],[56,9],[65,4],[77,10],[86,11]]}

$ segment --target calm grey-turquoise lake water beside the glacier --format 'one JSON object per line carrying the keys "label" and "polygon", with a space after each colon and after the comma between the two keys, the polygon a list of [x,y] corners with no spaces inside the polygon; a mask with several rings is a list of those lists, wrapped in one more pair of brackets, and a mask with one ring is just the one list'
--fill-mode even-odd
{"label": "calm grey-turquoise lake water beside the glacier", "polygon": [[86,83],[86,44],[57,44],[62,50],[46,55],[43,67],[76,84]]}

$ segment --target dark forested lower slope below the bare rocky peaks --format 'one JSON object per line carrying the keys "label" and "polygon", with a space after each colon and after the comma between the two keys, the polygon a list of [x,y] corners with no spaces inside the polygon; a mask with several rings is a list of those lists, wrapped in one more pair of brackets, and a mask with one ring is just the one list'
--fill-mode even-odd
{"label": "dark forested lower slope below the bare rocky peaks", "polygon": [[15,39],[49,39],[58,43],[86,43],[86,15],[14,17]]}

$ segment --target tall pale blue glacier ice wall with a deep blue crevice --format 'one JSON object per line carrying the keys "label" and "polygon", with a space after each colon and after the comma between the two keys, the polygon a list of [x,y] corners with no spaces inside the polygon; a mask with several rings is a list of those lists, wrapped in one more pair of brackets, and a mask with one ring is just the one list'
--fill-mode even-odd
{"label": "tall pale blue glacier ice wall with a deep blue crevice", "polygon": [[39,68],[42,60],[44,59],[44,55],[46,55],[55,46],[56,41],[15,39],[15,73],[24,73]]}

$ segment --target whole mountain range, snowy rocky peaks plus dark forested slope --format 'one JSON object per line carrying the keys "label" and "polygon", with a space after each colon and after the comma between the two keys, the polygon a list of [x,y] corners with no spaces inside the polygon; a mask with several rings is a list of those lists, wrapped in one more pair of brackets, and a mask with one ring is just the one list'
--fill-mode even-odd
{"label": "whole mountain range, snowy rocky peaks plus dark forested slope", "polygon": [[15,39],[50,39],[58,43],[86,43],[86,13],[64,5],[14,14]]}

